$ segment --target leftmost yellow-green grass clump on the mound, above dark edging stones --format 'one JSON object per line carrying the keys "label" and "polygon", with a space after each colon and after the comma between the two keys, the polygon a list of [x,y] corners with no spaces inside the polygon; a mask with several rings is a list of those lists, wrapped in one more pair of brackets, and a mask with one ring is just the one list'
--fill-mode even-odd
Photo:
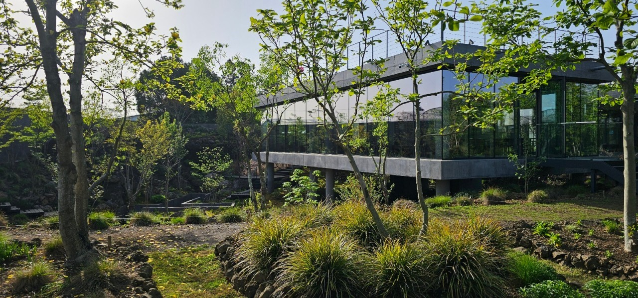
{"label": "leftmost yellow-green grass clump on the mound, above dark edging stones", "polygon": [[239,246],[239,255],[255,270],[269,272],[306,230],[306,222],[283,216],[272,219],[256,218],[246,228]]}

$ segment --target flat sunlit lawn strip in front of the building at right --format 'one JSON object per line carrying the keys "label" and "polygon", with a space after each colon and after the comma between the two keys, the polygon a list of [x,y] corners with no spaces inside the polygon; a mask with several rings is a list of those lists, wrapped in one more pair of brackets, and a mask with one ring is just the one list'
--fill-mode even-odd
{"label": "flat sunlit lawn strip in front of the building at right", "polygon": [[505,205],[455,206],[430,209],[433,217],[459,218],[474,212],[499,221],[575,221],[621,218],[618,198],[570,198],[548,203],[512,201]]}

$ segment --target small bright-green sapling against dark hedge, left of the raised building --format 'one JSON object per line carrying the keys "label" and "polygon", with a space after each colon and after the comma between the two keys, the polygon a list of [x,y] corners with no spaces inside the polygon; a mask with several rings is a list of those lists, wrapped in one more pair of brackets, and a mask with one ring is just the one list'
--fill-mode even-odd
{"label": "small bright-green sapling against dark hedge, left of the raised building", "polygon": [[195,177],[202,179],[202,191],[212,195],[212,200],[217,200],[217,192],[224,181],[224,172],[230,167],[230,156],[223,155],[221,148],[206,147],[197,153],[198,163],[193,161],[189,165],[197,172],[193,172]]}

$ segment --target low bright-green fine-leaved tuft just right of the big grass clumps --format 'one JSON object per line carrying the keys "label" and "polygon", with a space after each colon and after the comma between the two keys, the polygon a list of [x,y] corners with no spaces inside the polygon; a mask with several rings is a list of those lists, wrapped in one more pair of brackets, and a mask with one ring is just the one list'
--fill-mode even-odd
{"label": "low bright-green fine-leaved tuft just right of the big grass clumps", "polygon": [[517,251],[507,255],[507,271],[512,274],[519,287],[545,280],[558,280],[558,274],[553,267]]}

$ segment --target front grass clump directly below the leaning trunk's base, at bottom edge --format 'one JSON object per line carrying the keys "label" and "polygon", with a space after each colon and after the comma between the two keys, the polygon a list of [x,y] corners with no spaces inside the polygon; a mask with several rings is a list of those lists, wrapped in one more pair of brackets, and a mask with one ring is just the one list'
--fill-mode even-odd
{"label": "front grass clump directly below the leaning trunk's base, at bottom edge", "polygon": [[368,280],[375,297],[424,297],[429,276],[421,254],[413,244],[389,241],[380,246]]}

